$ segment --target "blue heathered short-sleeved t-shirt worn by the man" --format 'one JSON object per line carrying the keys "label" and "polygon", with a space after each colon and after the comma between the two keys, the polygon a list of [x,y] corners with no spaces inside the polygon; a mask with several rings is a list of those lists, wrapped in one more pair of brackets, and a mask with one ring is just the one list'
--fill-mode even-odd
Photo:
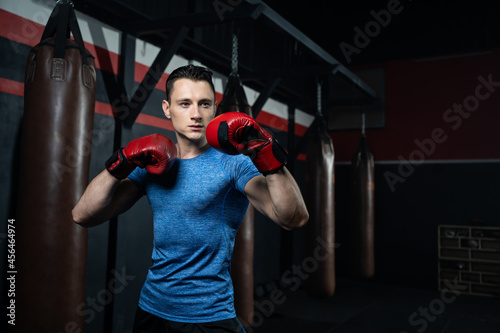
{"label": "blue heathered short-sleeved t-shirt worn by the man", "polygon": [[260,173],[244,155],[213,148],[177,159],[163,175],[129,178],[153,211],[152,266],[139,306],[178,322],[234,318],[230,276],[234,238],[248,208],[246,183]]}

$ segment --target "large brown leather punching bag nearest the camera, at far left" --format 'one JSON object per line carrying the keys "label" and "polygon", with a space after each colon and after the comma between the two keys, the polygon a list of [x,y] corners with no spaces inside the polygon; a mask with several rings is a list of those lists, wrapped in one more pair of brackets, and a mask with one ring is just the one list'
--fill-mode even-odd
{"label": "large brown leather punching bag nearest the camera, at far left", "polygon": [[26,66],[16,332],[83,332],[87,230],[71,211],[89,179],[95,88],[75,11],[58,4]]}

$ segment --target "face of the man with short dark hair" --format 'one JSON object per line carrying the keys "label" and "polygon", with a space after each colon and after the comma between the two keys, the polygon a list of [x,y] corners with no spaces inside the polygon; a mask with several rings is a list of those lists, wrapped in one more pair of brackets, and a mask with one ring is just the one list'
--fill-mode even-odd
{"label": "face of the man with short dark hair", "polygon": [[206,143],[205,130],[215,115],[215,96],[208,82],[176,80],[170,103],[164,100],[162,107],[172,120],[178,140]]}

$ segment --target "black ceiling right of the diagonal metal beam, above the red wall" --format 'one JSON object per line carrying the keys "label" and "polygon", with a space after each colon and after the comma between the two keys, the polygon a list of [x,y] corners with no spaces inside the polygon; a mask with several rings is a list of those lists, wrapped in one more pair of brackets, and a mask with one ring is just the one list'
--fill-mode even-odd
{"label": "black ceiling right of the diagonal metal beam, above the red wall", "polygon": [[[489,51],[500,47],[498,2],[486,0],[267,0],[271,8],[345,65],[439,57]],[[372,12],[390,21],[375,30]],[[399,4],[399,5],[397,5]],[[380,14],[379,14],[380,13]],[[353,53],[351,62],[340,44],[354,45],[358,27],[370,27],[369,44]]]}

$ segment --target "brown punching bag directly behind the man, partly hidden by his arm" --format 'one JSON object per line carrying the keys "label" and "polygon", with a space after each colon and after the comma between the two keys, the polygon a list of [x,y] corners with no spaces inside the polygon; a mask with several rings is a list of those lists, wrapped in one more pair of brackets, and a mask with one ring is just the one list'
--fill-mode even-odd
{"label": "brown punching bag directly behind the man, partly hidden by his arm", "polygon": [[[239,77],[231,73],[224,89],[224,96],[217,107],[216,115],[226,112],[243,112],[252,116]],[[253,324],[253,254],[254,254],[254,208],[248,206],[243,222],[234,241],[231,261],[231,279],[234,288],[234,307],[241,324],[248,328]]]}

